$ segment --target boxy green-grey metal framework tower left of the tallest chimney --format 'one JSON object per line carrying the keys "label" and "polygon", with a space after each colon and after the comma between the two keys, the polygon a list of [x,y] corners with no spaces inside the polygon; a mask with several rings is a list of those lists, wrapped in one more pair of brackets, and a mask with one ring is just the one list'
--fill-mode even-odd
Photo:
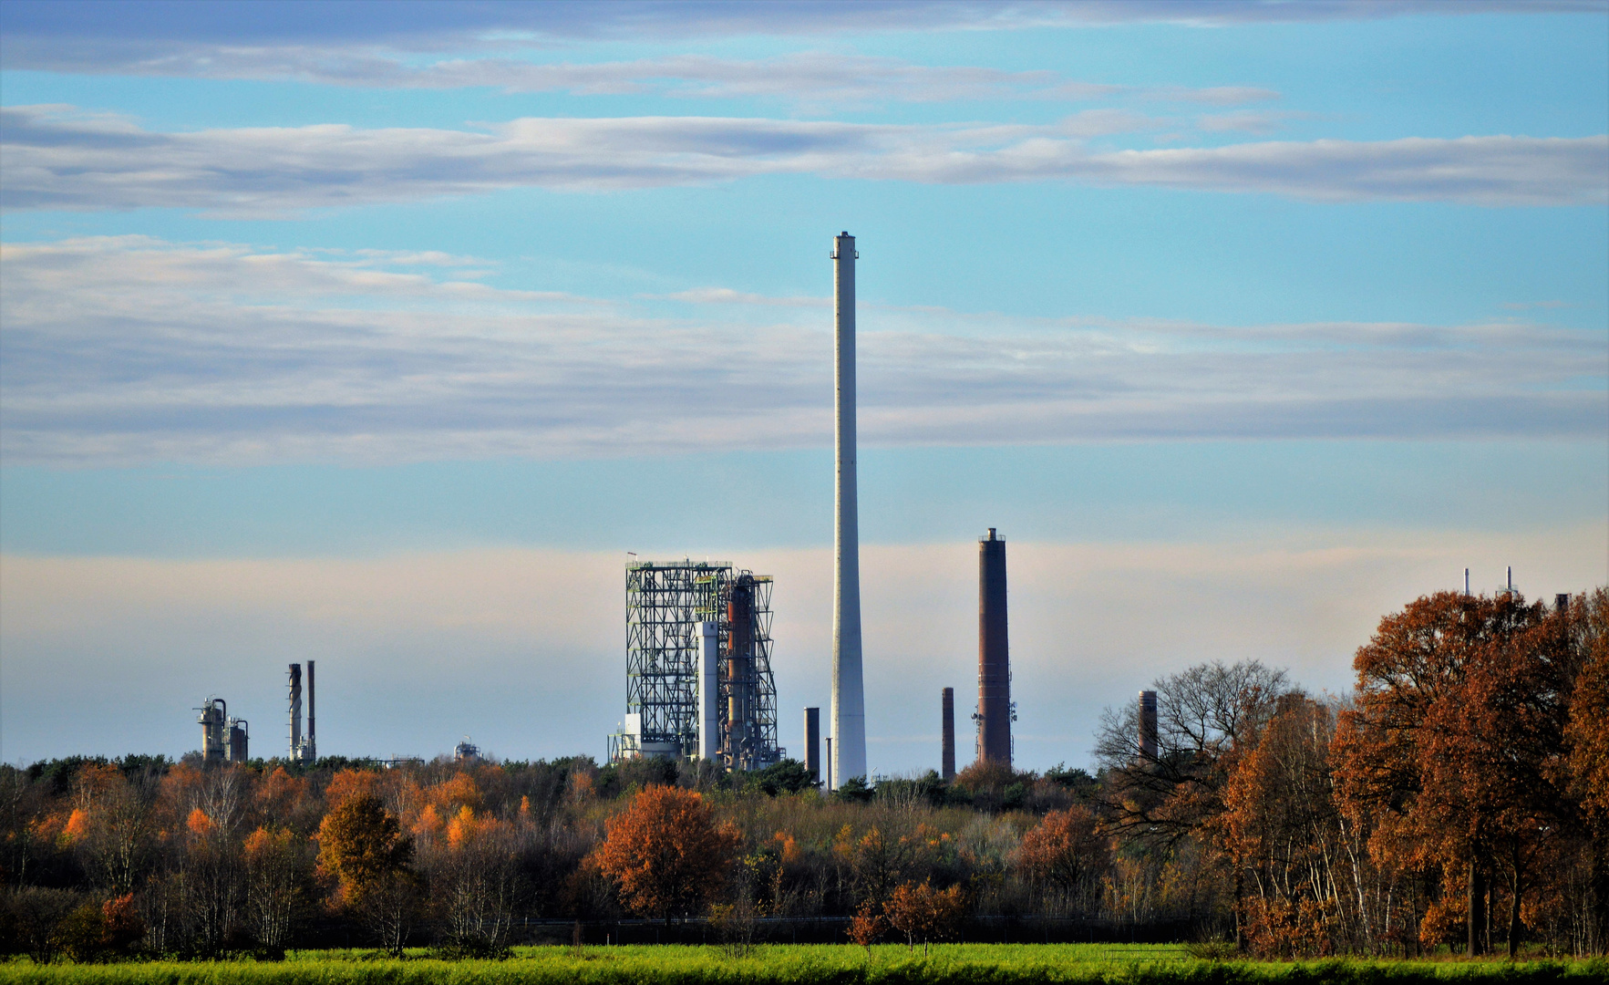
{"label": "boxy green-grey metal framework tower left of the tallest chimney", "polygon": [[705,621],[716,623],[719,636],[721,765],[763,769],[782,758],[771,673],[771,576],[737,570],[730,562],[679,560],[626,565],[628,724],[608,739],[610,761],[698,755],[698,645]]}

